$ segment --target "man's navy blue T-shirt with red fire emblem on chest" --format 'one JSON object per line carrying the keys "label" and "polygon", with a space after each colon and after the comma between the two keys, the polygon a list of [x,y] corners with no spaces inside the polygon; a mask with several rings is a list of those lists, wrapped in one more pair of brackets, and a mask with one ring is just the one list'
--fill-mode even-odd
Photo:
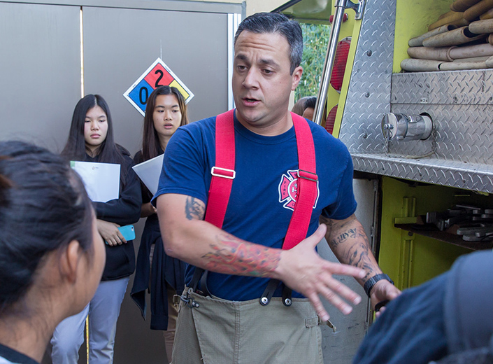
{"label": "man's navy blue T-shirt with red fire emblem on chest", "polygon": [[[352,192],[352,160],[344,144],[323,127],[308,122],[313,134],[319,194],[308,235],[324,214],[342,220],[356,209]],[[298,153],[294,127],[275,137],[250,132],[235,117],[236,178],[222,229],[256,244],[281,248],[294,207]],[[215,165],[215,117],[178,128],[164,153],[154,198],[164,193],[196,197],[207,204],[210,169]],[[194,267],[185,272],[190,284]],[[225,300],[259,298],[269,279],[209,272],[208,289]],[[281,290],[275,293],[281,295]],[[293,297],[302,297],[293,292]]]}

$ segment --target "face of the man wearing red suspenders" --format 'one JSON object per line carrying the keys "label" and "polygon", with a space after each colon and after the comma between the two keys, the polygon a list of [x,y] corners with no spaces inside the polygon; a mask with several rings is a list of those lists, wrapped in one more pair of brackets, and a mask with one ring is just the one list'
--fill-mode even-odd
{"label": "face of the man wearing red suspenders", "polygon": [[303,69],[296,67],[290,74],[290,45],[278,33],[242,31],[234,52],[236,117],[253,132],[269,133],[287,122],[290,92]]}

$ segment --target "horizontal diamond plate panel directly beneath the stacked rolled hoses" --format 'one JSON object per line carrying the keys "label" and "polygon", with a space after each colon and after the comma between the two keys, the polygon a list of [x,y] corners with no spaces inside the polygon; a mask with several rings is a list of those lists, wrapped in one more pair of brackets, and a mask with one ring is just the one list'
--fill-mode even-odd
{"label": "horizontal diamond plate panel directly beneath the stacked rolled hoses", "polygon": [[395,73],[393,104],[493,104],[493,70]]}

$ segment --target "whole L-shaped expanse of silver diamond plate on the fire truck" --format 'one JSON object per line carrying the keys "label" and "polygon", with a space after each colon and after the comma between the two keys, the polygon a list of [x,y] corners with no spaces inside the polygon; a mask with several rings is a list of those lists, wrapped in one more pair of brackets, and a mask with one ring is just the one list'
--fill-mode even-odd
{"label": "whole L-shaped expanse of silver diamond plate on the fire truck", "polygon": [[[339,134],[355,169],[493,193],[493,70],[392,75],[395,10],[396,0],[366,3]],[[434,134],[385,153],[390,111],[429,113]]]}

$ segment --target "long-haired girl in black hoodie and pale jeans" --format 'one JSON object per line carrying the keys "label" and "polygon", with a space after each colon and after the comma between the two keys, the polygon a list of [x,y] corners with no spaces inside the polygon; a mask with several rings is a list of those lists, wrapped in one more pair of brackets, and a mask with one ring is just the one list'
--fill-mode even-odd
{"label": "long-haired girl in black hoodie and pale jeans", "polygon": [[132,241],[118,228],[136,223],[141,214],[141,188],[129,152],[113,141],[113,123],[108,104],[97,94],[80,99],[73,111],[69,139],[62,155],[68,160],[115,163],[120,165],[119,197],[108,202],[92,202],[97,229],[106,241],[106,265],[94,298],[79,314],[60,323],[52,337],[54,364],[77,363],[83,344],[85,320],[89,315],[89,363],[113,363],[116,323],[135,269]]}

